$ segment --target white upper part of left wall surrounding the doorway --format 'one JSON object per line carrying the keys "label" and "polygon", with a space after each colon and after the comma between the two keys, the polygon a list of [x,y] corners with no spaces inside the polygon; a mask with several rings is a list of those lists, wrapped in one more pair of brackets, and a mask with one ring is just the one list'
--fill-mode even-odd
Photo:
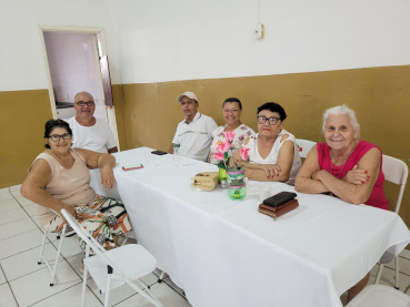
{"label": "white upper part of left wall surrounding the doorway", "polygon": [[101,27],[120,83],[108,0],[0,0],[0,91],[47,89],[39,24]]}

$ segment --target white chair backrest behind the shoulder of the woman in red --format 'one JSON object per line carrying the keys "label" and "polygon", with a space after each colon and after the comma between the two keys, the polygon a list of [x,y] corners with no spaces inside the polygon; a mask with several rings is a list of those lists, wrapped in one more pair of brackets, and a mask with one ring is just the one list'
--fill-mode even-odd
{"label": "white chair backrest behind the shoulder of the woman in red", "polygon": [[389,182],[400,185],[399,196],[397,198],[394,212],[398,214],[403,197],[409,167],[401,160],[383,154],[382,167],[384,178]]}

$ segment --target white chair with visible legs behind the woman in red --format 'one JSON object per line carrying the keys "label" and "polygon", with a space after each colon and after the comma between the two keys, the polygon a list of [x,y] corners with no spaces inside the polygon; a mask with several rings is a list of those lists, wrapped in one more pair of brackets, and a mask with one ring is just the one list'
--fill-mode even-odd
{"label": "white chair with visible legs behind the woman in red", "polygon": [[[387,181],[400,185],[399,196],[397,197],[394,208],[394,212],[399,214],[401,198],[403,197],[404,193],[407,176],[409,175],[409,168],[407,167],[407,164],[401,160],[383,154],[382,171],[384,174],[384,178]],[[384,265],[380,264],[374,284],[379,284],[383,266]],[[399,256],[394,258],[394,272],[396,272],[396,289],[399,289]]]}

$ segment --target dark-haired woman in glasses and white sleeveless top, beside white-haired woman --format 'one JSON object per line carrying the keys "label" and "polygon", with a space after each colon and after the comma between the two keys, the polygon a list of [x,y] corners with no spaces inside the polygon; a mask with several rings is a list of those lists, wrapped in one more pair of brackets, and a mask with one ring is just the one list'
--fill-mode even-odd
{"label": "dark-haired woman in glasses and white sleeveless top, beside white-haired woman", "polygon": [[293,185],[302,162],[294,135],[283,129],[287,113],[274,102],[258,108],[258,132],[248,137],[242,145],[248,158],[242,161],[240,151],[234,161],[246,167],[252,181],[284,182]]}

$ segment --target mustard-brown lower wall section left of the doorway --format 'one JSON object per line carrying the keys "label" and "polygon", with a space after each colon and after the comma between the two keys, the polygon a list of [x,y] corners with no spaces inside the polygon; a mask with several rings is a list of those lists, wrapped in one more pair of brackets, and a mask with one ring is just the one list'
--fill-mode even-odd
{"label": "mustard-brown lower wall section left of the doorway", "polygon": [[52,117],[48,90],[0,92],[0,188],[21,184],[43,151]]}

